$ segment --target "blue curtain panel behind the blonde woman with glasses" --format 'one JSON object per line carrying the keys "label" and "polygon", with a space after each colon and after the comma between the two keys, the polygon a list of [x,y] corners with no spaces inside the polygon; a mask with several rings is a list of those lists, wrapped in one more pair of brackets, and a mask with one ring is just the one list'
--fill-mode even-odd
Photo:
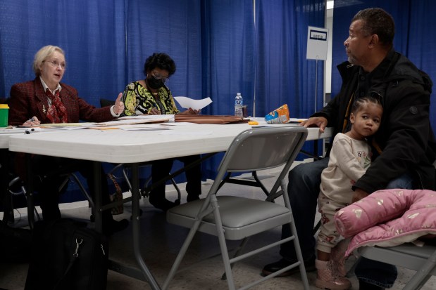
{"label": "blue curtain panel behind the blonde woman with glasses", "polygon": [[35,53],[56,45],[66,53],[63,82],[74,86],[92,105],[116,98],[125,83],[124,4],[108,1],[2,1],[1,60],[4,86],[35,78]]}

